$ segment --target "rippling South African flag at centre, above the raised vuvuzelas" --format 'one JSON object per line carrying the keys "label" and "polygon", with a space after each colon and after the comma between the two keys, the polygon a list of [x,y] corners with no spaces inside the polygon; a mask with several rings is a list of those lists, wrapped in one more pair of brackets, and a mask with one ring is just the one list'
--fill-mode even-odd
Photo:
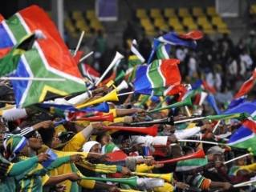
{"label": "rippling South African flag at centre, above the raised vuvuzelas", "polygon": [[138,66],[134,90],[138,94],[161,96],[167,87],[181,84],[178,59],[155,60],[150,65]]}

